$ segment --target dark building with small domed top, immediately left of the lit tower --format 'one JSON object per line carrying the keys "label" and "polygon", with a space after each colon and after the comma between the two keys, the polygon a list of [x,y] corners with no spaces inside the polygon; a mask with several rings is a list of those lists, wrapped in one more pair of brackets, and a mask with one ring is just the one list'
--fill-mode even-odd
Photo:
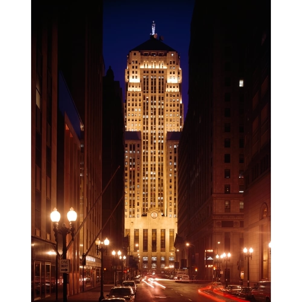
{"label": "dark building with small domed top, immediately left of the lit tower", "polygon": [[[103,77],[103,118],[102,118],[102,240],[110,238],[115,252],[121,251],[121,257],[127,255],[123,250],[125,218],[124,218],[124,102],[120,82],[114,81],[114,72],[109,66]],[[112,271],[108,267],[114,266],[112,255],[104,256],[107,266],[104,272],[108,280],[113,280]],[[122,266],[117,267],[117,283],[123,277]],[[111,278],[111,279],[110,279]]]}

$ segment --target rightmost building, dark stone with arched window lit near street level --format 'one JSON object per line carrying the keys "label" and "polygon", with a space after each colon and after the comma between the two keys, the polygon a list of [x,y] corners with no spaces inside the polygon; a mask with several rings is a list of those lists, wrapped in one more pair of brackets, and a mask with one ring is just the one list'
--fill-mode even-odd
{"label": "rightmost building, dark stone with arched window lit near street level", "polygon": [[[271,22],[270,2],[253,8],[246,47],[244,245],[251,281],[271,280]],[[244,284],[247,259],[244,261]],[[253,286],[251,284],[250,286]]]}

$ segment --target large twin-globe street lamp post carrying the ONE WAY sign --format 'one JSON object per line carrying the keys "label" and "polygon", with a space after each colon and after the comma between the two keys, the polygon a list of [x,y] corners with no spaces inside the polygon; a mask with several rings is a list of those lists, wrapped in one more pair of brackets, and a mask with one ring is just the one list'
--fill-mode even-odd
{"label": "large twin-globe street lamp post carrying the ONE WAY sign", "polygon": [[[67,213],[67,218],[69,220],[70,228],[66,227],[66,224],[63,223],[62,227],[59,228],[59,221],[60,221],[61,215],[57,211],[56,208],[53,209],[53,211],[50,214],[50,219],[53,222],[53,231],[55,233],[56,243],[58,242],[58,234],[62,235],[63,238],[63,259],[66,259],[67,257],[67,246],[66,246],[66,236],[67,234],[71,233],[71,237],[73,240],[74,231],[75,231],[75,222],[77,218],[76,212],[71,207],[69,212]],[[58,245],[57,245],[58,247]],[[58,251],[56,251],[58,254]],[[58,259],[57,259],[58,261]],[[58,276],[56,276],[58,278]],[[56,280],[57,282],[57,280]],[[63,302],[67,302],[67,273],[63,273]]]}

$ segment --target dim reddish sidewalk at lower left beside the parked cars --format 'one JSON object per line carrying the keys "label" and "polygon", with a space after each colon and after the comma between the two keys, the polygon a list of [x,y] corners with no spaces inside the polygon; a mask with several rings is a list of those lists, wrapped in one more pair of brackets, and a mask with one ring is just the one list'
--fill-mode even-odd
{"label": "dim reddish sidewalk at lower left beside the parked cars", "polygon": [[[109,294],[110,289],[114,286],[113,284],[104,284],[104,298],[107,294]],[[92,288],[88,291],[84,291],[82,293],[78,293],[75,295],[70,295],[67,297],[68,302],[98,302],[98,299],[101,296],[101,287]],[[63,302],[63,297],[58,297],[58,302]],[[54,301],[56,302],[56,301]]]}

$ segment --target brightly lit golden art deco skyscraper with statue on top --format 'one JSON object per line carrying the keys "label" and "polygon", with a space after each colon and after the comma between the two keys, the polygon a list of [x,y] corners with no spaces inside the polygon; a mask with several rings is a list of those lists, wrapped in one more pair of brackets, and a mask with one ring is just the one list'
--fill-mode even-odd
{"label": "brightly lit golden art deco skyscraper with statue on top", "polygon": [[150,39],[130,50],[125,70],[125,236],[138,262],[132,274],[168,274],[177,261],[182,70],[178,53],[162,41],[153,21]]}

